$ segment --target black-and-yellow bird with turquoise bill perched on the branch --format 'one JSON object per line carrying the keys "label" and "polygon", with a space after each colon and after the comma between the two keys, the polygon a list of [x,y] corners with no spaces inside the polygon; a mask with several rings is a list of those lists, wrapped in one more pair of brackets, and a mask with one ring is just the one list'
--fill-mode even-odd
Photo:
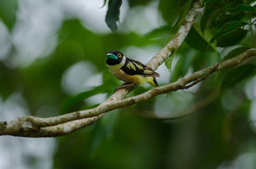
{"label": "black-and-yellow bird with turquoise bill perched on the branch", "polygon": [[[140,61],[125,57],[120,51],[109,51],[106,53],[106,64],[110,72],[120,81],[129,84],[115,89],[124,88],[132,85],[149,83],[153,87],[158,87],[155,77],[160,77],[157,72]],[[166,95],[165,95],[166,96]]]}

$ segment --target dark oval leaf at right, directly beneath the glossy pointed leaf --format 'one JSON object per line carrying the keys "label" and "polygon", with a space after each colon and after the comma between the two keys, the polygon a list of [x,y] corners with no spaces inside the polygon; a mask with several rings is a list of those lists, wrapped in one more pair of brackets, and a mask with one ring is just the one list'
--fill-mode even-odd
{"label": "dark oval leaf at right, directly beneath the glossy pointed leaf", "polygon": [[242,39],[245,38],[247,34],[247,30],[238,28],[234,32],[231,32],[227,35],[223,35],[222,37],[216,40],[216,46],[218,47],[226,47],[226,46],[233,46],[236,43],[240,42]]}

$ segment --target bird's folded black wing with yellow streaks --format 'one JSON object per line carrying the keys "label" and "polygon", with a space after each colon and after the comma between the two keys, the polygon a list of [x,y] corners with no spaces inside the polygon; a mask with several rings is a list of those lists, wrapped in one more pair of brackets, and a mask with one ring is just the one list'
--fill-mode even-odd
{"label": "bird's folded black wing with yellow streaks", "polygon": [[154,72],[151,68],[146,65],[140,63],[137,60],[127,58],[124,66],[122,66],[121,70],[123,70],[128,75],[144,75],[144,76],[152,76],[152,77],[160,77],[157,72]]}

